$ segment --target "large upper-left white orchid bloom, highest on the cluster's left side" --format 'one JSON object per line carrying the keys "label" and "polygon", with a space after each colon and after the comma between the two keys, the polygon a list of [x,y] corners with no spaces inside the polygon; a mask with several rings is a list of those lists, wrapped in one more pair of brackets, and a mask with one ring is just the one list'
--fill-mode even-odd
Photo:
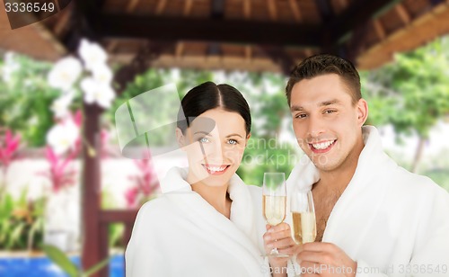
{"label": "large upper-left white orchid bloom, highest on the cluster's left side", "polygon": [[80,76],[81,63],[73,57],[62,58],[51,69],[48,74],[48,84],[63,91],[69,90]]}

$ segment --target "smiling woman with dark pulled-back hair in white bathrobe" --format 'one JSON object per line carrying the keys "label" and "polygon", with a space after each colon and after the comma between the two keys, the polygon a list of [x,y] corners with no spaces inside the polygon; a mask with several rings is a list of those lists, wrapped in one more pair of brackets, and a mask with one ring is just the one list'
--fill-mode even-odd
{"label": "smiling woman with dark pulled-back hair in white bathrobe", "polygon": [[181,108],[176,137],[189,167],[172,168],[161,186],[177,189],[139,210],[127,276],[262,276],[260,188],[235,174],[251,136],[248,103],[233,86],[207,82]]}

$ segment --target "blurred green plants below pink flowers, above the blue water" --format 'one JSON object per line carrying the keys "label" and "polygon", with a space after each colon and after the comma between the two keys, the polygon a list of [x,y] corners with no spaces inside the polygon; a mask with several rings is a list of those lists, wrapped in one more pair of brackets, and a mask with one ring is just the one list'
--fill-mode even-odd
{"label": "blurred green plants below pink flowers, above the blue water", "polygon": [[0,249],[36,249],[42,244],[44,199],[27,200],[23,191],[18,200],[3,193],[0,197]]}

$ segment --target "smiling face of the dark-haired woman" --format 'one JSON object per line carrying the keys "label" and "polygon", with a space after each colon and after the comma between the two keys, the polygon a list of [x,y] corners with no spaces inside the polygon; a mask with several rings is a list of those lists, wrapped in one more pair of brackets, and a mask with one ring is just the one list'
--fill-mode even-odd
{"label": "smiling face of the dark-haired woman", "polygon": [[225,185],[242,162],[250,138],[237,112],[216,108],[201,113],[178,140],[189,160],[189,183]]}

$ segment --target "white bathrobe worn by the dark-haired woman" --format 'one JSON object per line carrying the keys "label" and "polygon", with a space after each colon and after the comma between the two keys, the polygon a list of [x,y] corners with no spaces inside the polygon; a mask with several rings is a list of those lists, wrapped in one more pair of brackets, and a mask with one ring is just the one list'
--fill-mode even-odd
{"label": "white bathrobe worn by the dark-haired woman", "polygon": [[260,188],[234,174],[227,219],[191,190],[186,176],[187,169],[172,168],[161,183],[163,195],[139,210],[126,250],[126,275],[264,276],[269,265],[260,256],[258,228],[265,226]]}

